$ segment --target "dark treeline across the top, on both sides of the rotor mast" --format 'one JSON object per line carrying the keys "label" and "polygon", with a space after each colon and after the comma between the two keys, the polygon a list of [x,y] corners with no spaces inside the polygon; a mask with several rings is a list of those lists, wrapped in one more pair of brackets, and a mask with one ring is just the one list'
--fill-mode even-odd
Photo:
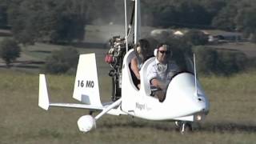
{"label": "dark treeline across the top, on both sides of the rotor mast", "polygon": [[[256,39],[254,0],[142,0],[141,5],[142,25],[239,31]],[[123,24],[123,10],[120,0],[0,0],[0,26],[10,26],[23,44],[79,41],[86,24]]]}

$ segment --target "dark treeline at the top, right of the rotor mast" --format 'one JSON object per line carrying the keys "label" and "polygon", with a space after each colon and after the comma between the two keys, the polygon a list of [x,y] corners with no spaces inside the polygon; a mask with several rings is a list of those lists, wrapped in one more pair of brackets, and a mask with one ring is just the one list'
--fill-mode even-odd
{"label": "dark treeline at the top, right of the rotor mast", "polygon": [[146,18],[153,26],[238,31],[246,38],[255,39],[254,0],[156,0],[143,3],[149,14]]}

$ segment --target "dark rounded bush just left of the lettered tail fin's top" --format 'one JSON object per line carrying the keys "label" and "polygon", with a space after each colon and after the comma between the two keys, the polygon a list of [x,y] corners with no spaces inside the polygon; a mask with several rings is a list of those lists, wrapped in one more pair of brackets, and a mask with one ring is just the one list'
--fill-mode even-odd
{"label": "dark rounded bush just left of the lettered tail fin's top", "polygon": [[62,74],[76,69],[78,65],[78,51],[74,48],[56,50],[46,59],[44,70],[51,74]]}

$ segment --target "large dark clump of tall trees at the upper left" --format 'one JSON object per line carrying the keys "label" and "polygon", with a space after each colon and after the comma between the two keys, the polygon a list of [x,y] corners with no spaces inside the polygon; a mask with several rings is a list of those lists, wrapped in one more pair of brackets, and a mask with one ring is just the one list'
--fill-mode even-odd
{"label": "large dark clump of tall trees at the upper left", "polygon": [[86,0],[24,0],[12,3],[8,16],[14,38],[25,45],[71,42],[84,38],[87,8]]}

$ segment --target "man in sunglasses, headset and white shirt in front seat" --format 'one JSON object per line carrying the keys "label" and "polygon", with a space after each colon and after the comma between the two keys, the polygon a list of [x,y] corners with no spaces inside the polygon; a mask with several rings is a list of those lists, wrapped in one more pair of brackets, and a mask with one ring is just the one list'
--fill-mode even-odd
{"label": "man in sunglasses, headset and white shirt in front seat", "polygon": [[155,95],[158,97],[159,102],[165,100],[166,89],[170,79],[174,75],[174,71],[178,71],[178,66],[170,61],[171,56],[170,46],[159,44],[155,60],[147,68],[147,78],[150,86],[158,89]]}

